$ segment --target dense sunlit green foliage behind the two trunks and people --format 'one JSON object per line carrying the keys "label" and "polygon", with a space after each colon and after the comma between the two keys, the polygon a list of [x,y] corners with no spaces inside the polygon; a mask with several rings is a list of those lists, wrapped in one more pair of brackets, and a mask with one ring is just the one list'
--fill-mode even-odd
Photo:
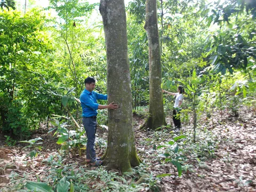
{"label": "dense sunlit green foliage behind the two trunks and people", "polygon": [[[68,142],[66,149],[77,147],[80,154],[85,140],[79,130],[78,99],[84,79],[95,77],[95,91],[107,93],[99,2],[50,0],[44,8],[32,0],[0,3],[0,133],[6,145],[33,139],[31,134],[43,124],[47,129],[54,125],[50,131],[68,124],[76,139],[59,131],[57,143]],[[225,115],[243,115],[241,108],[255,116],[256,2],[161,0],[157,5],[161,86],[171,92],[178,85],[185,87],[181,122],[183,127],[192,124],[193,142],[202,118],[207,121],[218,114],[221,124]],[[143,118],[149,103],[145,6],[144,0],[126,2],[133,114]],[[166,117],[171,116],[173,102],[164,95]],[[98,124],[106,126],[107,115],[107,110],[99,111]],[[170,127],[169,123],[162,128]],[[38,151],[33,150],[31,158]]]}

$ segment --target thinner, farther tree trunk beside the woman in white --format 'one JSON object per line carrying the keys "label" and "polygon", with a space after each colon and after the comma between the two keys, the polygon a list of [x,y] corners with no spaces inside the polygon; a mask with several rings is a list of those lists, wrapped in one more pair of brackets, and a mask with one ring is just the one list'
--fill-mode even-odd
{"label": "thinner, farther tree trunk beside the woman in white", "polygon": [[149,46],[149,118],[142,128],[155,130],[166,125],[163,107],[163,93],[161,89],[162,69],[161,53],[157,26],[156,0],[146,1],[145,30],[148,35]]}

